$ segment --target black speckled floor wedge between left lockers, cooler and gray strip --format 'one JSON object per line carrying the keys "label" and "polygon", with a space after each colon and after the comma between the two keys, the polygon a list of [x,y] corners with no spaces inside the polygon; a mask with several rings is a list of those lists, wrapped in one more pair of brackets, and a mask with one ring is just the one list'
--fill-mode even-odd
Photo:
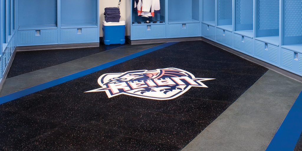
{"label": "black speckled floor wedge between left lockers, cooler and gray strip", "polygon": [[127,45],[127,43],[123,45],[104,45],[100,43],[99,47],[92,48],[20,51],[16,53],[7,78],[66,63],[125,45]]}

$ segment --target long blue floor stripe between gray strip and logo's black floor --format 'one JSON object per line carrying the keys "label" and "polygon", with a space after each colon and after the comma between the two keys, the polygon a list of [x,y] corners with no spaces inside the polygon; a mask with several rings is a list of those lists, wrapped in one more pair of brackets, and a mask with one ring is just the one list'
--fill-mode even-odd
{"label": "long blue floor stripe between gray strip and logo's black floor", "polygon": [[74,73],[74,74],[69,75],[69,76],[65,76],[65,77],[62,77],[62,78],[59,78],[59,79],[55,79],[55,80],[52,80],[50,82],[46,82],[46,83],[43,83],[43,84],[40,84],[40,85],[36,85],[34,87],[27,88],[27,89],[24,89],[24,90],[21,90],[21,91],[18,91],[18,92],[9,94],[9,95],[5,95],[5,96],[3,96],[3,97],[0,98],[0,104],[12,101],[12,100],[17,99],[17,98],[21,98],[21,97],[26,96],[26,95],[30,95],[32,93],[44,90],[46,88],[53,87],[55,85],[62,84],[64,82],[67,82],[67,81],[70,81],[70,80],[73,80],[73,79],[77,79],[77,78],[82,77],[82,76],[86,76],[86,75],[91,74],[93,72],[97,72],[99,70],[106,69],[108,67],[117,65],[119,63],[123,63],[125,61],[128,61],[130,59],[136,58],[138,56],[142,56],[144,54],[147,54],[147,53],[150,53],[150,52],[153,52],[153,51],[156,51],[156,50],[159,50],[159,49],[171,46],[171,45],[173,45],[175,43],[178,43],[178,42],[164,43],[164,44],[161,44],[159,46],[152,47],[152,48],[140,51],[138,53],[134,53],[134,54],[131,54],[129,56],[125,56],[123,58],[116,59],[114,61],[102,64],[102,65],[99,65],[99,66],[96,66],[96,67],[93,67],[93,68],[90,68],[90,69],[83,70],[81,72]]}

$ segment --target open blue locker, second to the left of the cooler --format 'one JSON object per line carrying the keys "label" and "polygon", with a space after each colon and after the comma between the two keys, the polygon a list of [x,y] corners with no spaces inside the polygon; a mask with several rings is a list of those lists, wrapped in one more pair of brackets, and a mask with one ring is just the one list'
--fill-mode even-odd
{"label": "open blue locker, second to the left of the cooler", "polygon": [[57,0],[17,0],[18,46],[58,44],[57,5]]}

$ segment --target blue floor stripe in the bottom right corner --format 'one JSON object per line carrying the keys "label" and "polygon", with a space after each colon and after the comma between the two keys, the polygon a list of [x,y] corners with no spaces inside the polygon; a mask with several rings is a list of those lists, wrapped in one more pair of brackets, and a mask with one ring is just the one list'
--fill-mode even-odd
{"label": "blue floor stripe in the bottom right corner", "polygon": [[[286,100],[284,100],[286,101]],[[266,151],[293,151],[302,132],[302,92],[279,127]]]}

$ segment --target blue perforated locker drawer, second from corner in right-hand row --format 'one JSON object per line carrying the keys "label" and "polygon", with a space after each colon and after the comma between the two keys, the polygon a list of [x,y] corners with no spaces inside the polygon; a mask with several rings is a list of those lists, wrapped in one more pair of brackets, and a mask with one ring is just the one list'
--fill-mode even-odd
{"label": "blue perforated locker drawer, second from corner in right-hand row", "polygon": [[216,28],[216,42],[232,47],[233,33],[224,29]]}

